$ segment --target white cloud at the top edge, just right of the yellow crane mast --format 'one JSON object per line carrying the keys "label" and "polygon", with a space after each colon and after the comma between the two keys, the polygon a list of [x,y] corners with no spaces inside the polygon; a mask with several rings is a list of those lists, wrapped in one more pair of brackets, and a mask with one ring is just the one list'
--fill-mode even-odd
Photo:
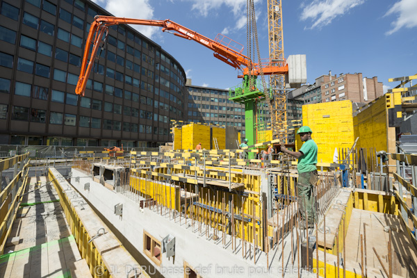
{"label": "white cloud at the top edge, just right of the yellow crane mast", "polygon": [[[321,28],[332,22],[339,15],[345,15],[352,8],[361,5],[366,0],[313,0],[308,5],[302,5],[301,19],[311,19],[314,22],[310,28]],[[413,1],[413,0],[411,0]]]}

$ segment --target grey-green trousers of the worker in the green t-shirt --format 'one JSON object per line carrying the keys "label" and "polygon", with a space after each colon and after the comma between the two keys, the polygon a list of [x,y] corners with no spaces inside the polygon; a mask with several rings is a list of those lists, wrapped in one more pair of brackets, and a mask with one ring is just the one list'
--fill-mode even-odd
{"label": "grey-green trousers of the worker in the green t-shirt", "polygon": [[316,199],[313,188],[318,181],[317,170],[298,174],[297,194],[302,219],[306,220],[308,215],[309,224],[313,224],[316,218]]}

